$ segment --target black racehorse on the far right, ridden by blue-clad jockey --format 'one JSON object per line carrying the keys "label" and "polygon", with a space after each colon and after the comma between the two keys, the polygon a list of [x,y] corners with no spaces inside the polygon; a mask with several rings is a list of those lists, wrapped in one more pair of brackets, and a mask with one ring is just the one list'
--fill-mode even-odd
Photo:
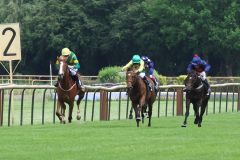
{"label": "black racehorse on the far right, ridden by blue-clad jockey", "polygon": [[[186,88],[186,113],[182,127],[187,126],[190,103],[193,104],[193,109],[195,112],[194,124],[198,124],[198,127],[201,127],[202,117],[210,98],[210,94],[207,95],[208,88],[195,71],[188,73],[186,79],[184,80],[184,84]],[[200,108],[201,112],[199,114]]]}

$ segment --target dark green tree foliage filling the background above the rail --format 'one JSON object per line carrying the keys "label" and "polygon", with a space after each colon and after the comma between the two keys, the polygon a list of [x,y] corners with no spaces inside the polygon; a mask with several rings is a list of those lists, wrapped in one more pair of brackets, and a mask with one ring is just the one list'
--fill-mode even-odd
{"label": "dark green tree foliage filling the background above the rail", "polygon": [[147,55],[163,75],[185,74],[193,53],[211,75],[240,75],[238,0],[2,0],[0,22],[19,22],[22,74],[48,74],[64,47],[85,75]]}

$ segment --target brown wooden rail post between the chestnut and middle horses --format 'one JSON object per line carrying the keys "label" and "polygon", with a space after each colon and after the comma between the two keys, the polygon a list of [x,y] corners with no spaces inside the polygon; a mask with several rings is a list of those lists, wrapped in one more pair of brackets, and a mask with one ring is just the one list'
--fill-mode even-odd
{"label": "brown wooden rail post between the chestnut and middle horses", "polygon": [[108,93],[107,91],[100,91],[100,120],[108,120]]}

